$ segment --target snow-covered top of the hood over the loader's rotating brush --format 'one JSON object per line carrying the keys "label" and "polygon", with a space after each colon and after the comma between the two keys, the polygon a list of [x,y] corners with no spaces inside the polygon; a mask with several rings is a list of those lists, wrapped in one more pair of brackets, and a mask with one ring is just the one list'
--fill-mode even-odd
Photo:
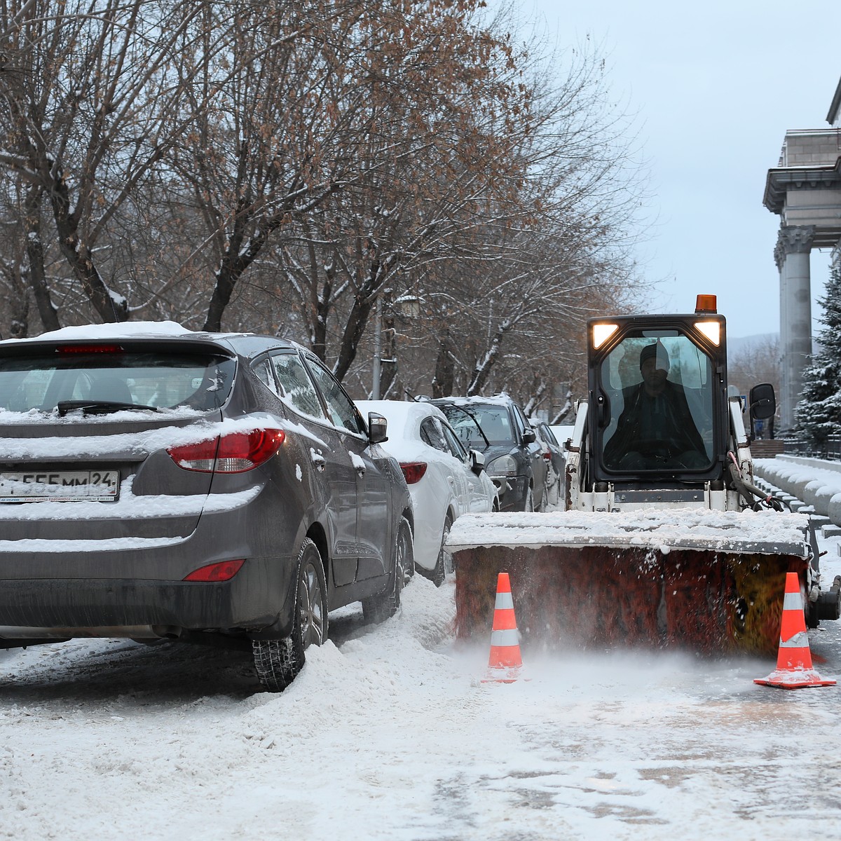
{"label": "snow-covered top of the hood over the loader's rotating brush", "polygon": [[477,546],[592,545],[706,549],[807,557],[808,518],[788,511],[671,509],[467,514],[452,526],[452,551]]}

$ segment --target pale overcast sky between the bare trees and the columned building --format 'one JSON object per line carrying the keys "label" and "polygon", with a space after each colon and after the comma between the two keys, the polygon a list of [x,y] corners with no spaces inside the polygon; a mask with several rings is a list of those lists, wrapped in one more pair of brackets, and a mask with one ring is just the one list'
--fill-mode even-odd
{"label": "pale overcast sky between the bare trees and the columned building", "polygon": [[[590,34],[612,92],[638,115],[659,220],[639,258],[649,279],[670,278],[658,309],[691,311],[713,293],[730,336],[777,332],[780,217],[762,204],[765,177],[786,130],[829,128],[841,3],[512,2],[559,46]],[[813,252],[813,298],[827,273],[828,253]]]}

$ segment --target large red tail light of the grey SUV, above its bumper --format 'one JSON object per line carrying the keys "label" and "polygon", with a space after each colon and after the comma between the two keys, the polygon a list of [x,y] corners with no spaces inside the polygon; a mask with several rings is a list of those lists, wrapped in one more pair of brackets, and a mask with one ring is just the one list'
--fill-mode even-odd
{"label": "large red tail light of the grey SUV, above its bumper", "polygon": [[198,444],[169,447],[179,468],[200,473],[245,473],[267,462],[286,440],[282,429],[231,432]]}

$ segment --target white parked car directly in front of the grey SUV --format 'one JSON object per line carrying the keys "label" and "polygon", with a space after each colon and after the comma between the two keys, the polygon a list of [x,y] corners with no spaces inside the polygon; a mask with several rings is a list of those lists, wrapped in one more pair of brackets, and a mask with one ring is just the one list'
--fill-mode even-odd
{"label": "white parked car directly in front of the grey SUV", "polygon": [[415,569],[440,587],[452,571],[444,549],[452,523],[497,505],[484,455],[463,447],[442,410],[431,403],[357,400],[357,407],[389,421],[389,440],[382,446],[398,460],[415,507]]}

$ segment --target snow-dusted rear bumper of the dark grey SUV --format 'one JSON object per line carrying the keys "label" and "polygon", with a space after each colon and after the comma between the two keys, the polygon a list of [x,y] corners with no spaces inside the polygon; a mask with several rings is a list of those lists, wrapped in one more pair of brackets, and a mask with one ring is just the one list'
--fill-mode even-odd
{"label": "snow-dusted rear bumper of the dark grey SUV", "polygon": [[[75,532],[79,539],[62,540],[51,528],[55,524],[30,521],[30,534],[49,537],[0,540],[0,637],[178,633],[159,634],[152,627],[236,632],[271,627],[287,636],[299,539],[294,528],[300,522],[297,516],[286,522],[276,516],[267,530],[265,509],[255,502],[206,512],[185,537],[166,531],[153,536],[152,521],[126,521],[124,537],[115,537],[114,524],[90,521]],[[108,537],[95,539],[100,529]],[[208,564],[239,559],[245,563],[227,581],[183,580]]]}

